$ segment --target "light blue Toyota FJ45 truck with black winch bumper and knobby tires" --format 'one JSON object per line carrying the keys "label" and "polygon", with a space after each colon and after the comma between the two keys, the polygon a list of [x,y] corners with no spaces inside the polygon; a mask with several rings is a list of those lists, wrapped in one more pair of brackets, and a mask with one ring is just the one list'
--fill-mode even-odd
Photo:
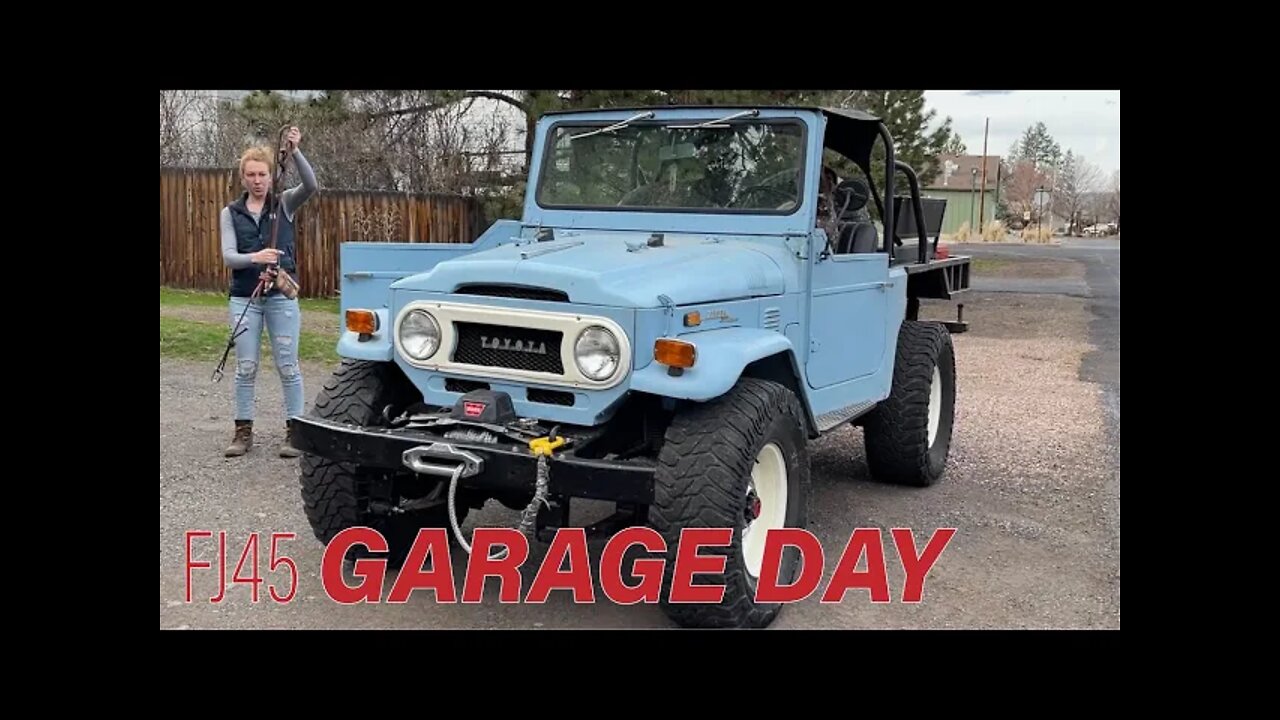
{"label": "light blue Toyota FJ45 truck with black winch bumper and knobby tires", "polygon": [[[836,182],[824,152],[861,174]],[[367,525],[403,557],[420,528],[466,546],[488,500],[536,537],[573,497],[612,501],[600,528],[664,538],[676,623],[763,626],[764,538],[808,521],[809,442],[851,423],[876,479],[942,477],[965,324],[918,314],[968,290],[969,259],[938,258],[940,201],[878,118],[552,113],[527,187],[471,243],[342,245],[342,364],[294,420],[321,542]],[[668,602],[685,528],[733,529],[717,605]]]}

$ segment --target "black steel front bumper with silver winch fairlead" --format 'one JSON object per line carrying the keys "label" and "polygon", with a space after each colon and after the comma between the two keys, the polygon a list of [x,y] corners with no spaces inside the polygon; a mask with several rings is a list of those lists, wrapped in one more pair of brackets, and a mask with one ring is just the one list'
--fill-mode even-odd
{"label": "black steel front bumper with silver winch fairlead", "polygon": [[[339,462],[388,470],[412,470],[442,478],[463,465],[458,486],[489,492],[532,492],[538,456],[527,446],[466,442],[416,429],[362,428],[319,418],[293,419],[293,446]],[[654,468],[577,457],[550,456],[553,496],[650,505]]]}

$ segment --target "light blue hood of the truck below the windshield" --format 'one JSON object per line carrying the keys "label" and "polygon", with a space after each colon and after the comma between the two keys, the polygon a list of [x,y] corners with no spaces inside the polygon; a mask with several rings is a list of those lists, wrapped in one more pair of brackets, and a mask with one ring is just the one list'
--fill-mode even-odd
{"label": "light blue hood of the truck below the windshield", "polygon": [[580,233],[548,242],[503,245],[440,263],[404,278],[397,288],[453,292],[462,284],[521,284],[568,293],[570,301],[617,307],[658,307],[781,295],[778,261],[763,245],[705,236],[666,236],[649,247],[644,234]]}

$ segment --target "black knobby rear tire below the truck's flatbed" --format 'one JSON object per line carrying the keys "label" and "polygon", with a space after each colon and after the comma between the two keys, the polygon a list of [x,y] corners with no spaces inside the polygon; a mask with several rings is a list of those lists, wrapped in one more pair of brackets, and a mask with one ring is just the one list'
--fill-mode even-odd
{"label": "black knobby rear tire below the truck's flatbed", "polygon": [[[938,424],[929,442],[934,382]],[[863,421],[867,465],[884,483],[927,487],[942,478],[955,420],[956,361],[951,333],[941,323],[906,320],[897,336],[890,396]]]}

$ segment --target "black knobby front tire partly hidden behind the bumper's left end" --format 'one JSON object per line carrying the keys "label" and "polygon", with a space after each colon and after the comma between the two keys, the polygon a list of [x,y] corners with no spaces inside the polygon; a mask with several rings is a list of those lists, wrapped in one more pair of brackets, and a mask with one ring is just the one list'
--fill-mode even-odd
{"label": "black knobby front tire partly hidden behind the bumper's left end", "polygon": [[[403,405],[406,397],[412,397],[407,393],[412,392],[412,386],[394,364],[346,359],[324,383],[311,414],[361,427],[380,425],[384,424],[383,409],[390,404]],[[323,543],[328,544],[347,528],[370,527],[387,538],[390,551],[385,557],[398,565],[408,553],[419,528],[451,528],[444,505],[397,516],[370,512],[370,483],[384,473],[383,469],[337,462],[310,454],[302,454],[298,462],[303,510],[316,539]],[[465,503],[458,502],[457,515],[461,524],[467,515]],[[452,534],[449,530],[451,538]],[[357,556],[378,557],[381,553],[355,547],[347,559]]]}

